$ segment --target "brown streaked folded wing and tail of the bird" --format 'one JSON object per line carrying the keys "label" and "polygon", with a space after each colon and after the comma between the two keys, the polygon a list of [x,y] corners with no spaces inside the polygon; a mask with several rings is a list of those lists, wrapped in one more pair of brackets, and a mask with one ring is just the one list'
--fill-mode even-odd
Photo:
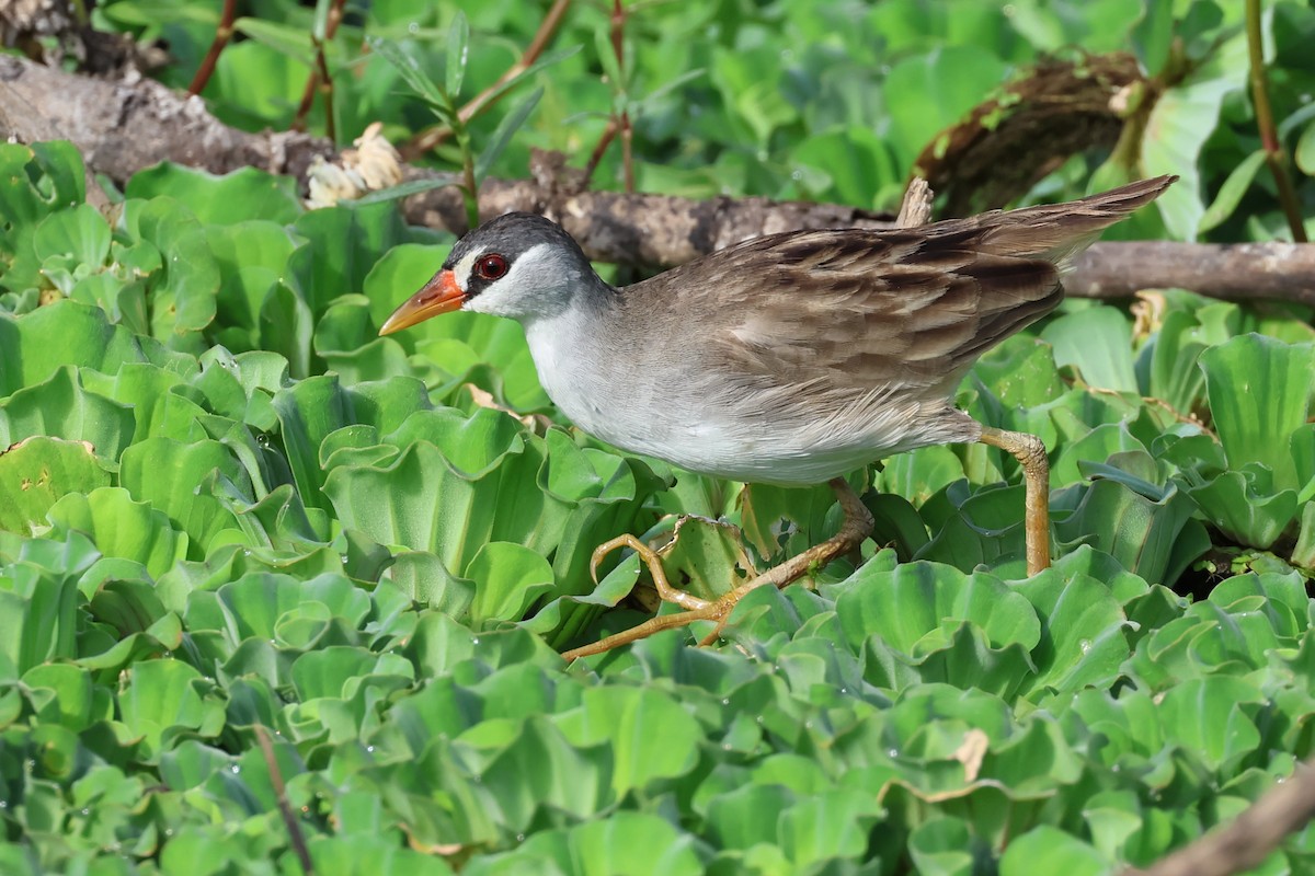
{"label": "brown streaked folded wing and tail of the bird", "polygon": [[1059,305],[1072,257],[1170,181],[907,230],[757,238],[626,297],[661,294],[711,336],[707,364],[744,382],[945,394],[986,349]]}

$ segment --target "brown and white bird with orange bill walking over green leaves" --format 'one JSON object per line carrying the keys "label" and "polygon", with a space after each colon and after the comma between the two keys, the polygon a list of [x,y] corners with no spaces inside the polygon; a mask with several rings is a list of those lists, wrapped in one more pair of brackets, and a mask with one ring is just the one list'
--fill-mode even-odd
{"label": "brown and white bird with orange bill walking over green leaves", "polygon": [[506,213],[466,234],[379,334],[454,310],[515,319],[543,389],[594,437],[729,481],[830,483],[840,531],[717,600],[672,587],[634,536],[598,548],[594,569],[618,546],[636,550],[659,596],[685,611],[568,657],[702,619],[718,621],[711,641],[750,590],[784,587],[871,533],[843,475],[932,444],[982,443],[1019,461],[1027,574],[1045,569],[1045,445],[978,423],[953,395],[982,353],[1060,303],[1078,253],[1174,180],[914,227],[771,234],[623,288],[556,222]]}

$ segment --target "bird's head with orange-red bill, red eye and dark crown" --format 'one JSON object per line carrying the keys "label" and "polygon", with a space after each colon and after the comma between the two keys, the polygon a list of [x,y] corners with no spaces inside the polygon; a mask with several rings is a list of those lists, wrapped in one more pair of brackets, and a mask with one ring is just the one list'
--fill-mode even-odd
{"label": "bird's head with orange-red bill, red eye and dark crown", "polygon": [[458,240],[439,272],[379,334],[452,310],[533,322],[567,310],[594,285],[602,281],[562,226],[534,213],[508,213]]}

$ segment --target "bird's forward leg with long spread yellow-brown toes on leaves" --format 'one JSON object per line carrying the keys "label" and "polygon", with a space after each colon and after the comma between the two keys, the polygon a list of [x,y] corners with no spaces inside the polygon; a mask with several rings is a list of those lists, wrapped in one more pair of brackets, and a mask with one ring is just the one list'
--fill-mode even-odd
{"label": "bird's forward leg with long spread yellow-brown toes on leaves", "polygon": [[659,633],[665,629],[688,626],[689,624],[701,620],[717,621],[717,628],[700,642],[700,645],[711,644],[718,636],[721,636],[722,628],[725,626],[731,609],[735,608],[735,604],[739,603],[739,600],[743,599],[748,591],[764,584],[785,587],[803,575],[814,563],[826,563],[853,550],[863,544],[863,540],[872,532],[872,514],[869,514],[867,507],[864,507],[864,504],[859,500],[857,494],[849,487],[848,482],[843,478],[831,478],[830,485],[831,489],[835,490],[836,498],[840,500],[840,508],[844,511],[844,523],[840,524],[840,531],[822,544],[814,545],[803,553],[790,557],[781,565],[764,571],[761,575],[756,575],[755,578],[744,582],[719,599],[700,599],[693,594],[686,594],[682,590],[672,587],[667,580],[667,573],[663,570],[661,557],[659,557],[652,548],[634,536],[619,536],[604,545],[600,545],[598,549],[593,552],[590,569],[597,569],[598,562],[617,548],[630,548],[639,554],[643,563],[648,566],[648,573],[652,575],[654,587],[658,590],[658,595],[661,596],[663,600],[675,603],[686,611],[682,611],[679,615],[660,615],[658,617],[651,617],[638,626],[633,626],[619,633],[613,633],[611,636],[600,638],[592,645],[563,651],[562,657],[568,661],[573,661],[577,657],[602,654],[604,651],[610,651],[613,647],[619,647],[621,645],[629,645],[630,642],[636,642],[640,638],[647,638],[654,633]]}

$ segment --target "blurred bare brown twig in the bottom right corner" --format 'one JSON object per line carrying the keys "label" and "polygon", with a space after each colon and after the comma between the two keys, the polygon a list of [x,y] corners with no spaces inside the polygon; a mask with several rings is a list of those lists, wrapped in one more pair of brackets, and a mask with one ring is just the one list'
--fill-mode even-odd
{"label": "blurred bare brown twig in the bottom right corner", "polygon": [[1279,780],[1227,827],[1123,876],[1232,876],[1256,867],[1285,837],[1315,817],[1315,763],[1303,760],[1290,779]]}

